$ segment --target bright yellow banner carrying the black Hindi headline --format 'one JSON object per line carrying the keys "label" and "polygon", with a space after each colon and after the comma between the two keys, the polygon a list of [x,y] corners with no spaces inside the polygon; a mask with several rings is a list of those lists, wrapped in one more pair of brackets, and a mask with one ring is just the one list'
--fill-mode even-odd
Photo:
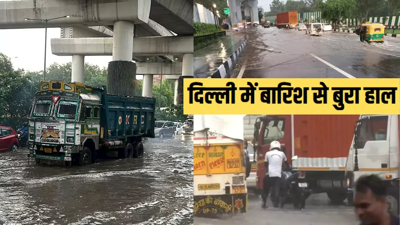
{"label": "bright yellow banner carrying the black Hindi headline", "polygon": [[184,79],[184,114],[399,114],[400,78]]}

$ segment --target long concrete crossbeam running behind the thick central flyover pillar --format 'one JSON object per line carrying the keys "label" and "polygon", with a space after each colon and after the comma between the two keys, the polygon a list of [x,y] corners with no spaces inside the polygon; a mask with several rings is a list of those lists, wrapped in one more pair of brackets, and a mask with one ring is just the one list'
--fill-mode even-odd
{"label": "long concrete crossbeam running behind the thick central flyover pillar", "polygon": [[[52,53],[58,56],[111,56],[113,38],[52,38]],[[133,55],[180,55],[193,53],[193,36],[133,38]]]}

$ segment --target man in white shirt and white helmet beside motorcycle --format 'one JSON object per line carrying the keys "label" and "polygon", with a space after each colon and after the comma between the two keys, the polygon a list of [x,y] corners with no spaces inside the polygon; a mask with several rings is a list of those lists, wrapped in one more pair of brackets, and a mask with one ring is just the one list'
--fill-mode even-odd
{"label": "man in white shirt and white helmet beside motorcycle", "polygon": [[285,153],[280,151],[279,141],[272,141],[270,144],[270,151],[265,154],[264,166],[268,171],[263,180],[263,194],[262,194],[262,207],[266,208],[266,201],[270,189],[272,188],[272,195],[275,196],[273,200],[274,207],[277,208],[279,204],[279,189],[282,176],[282,163],[285,163],[287,168],[290,168],[286,159]]}

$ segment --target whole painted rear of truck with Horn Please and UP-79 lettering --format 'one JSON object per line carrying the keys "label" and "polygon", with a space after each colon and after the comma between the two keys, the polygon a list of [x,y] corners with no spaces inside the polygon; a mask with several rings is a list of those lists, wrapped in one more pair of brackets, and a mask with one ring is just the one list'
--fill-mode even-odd
{"label": "whole painted rear of truck with Horn Please and UP-79 lettering", "polygon": [[[223,121],[237,115],[211,121],[218,116],[221,115],[194,115],[193,214],[196,217],[247,211],[243,129],[233,123],[235,119],[226,121],[230,124]],[[236,130],[226,129],[230,125],[235,125]]]}

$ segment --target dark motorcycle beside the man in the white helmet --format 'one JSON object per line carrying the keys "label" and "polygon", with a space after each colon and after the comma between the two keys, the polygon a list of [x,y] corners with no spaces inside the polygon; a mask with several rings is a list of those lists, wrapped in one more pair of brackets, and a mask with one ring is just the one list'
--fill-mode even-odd
{"label": "dark motorcycle beside the man in the white helmet", "polygon": [[[296,160],[297,156],[292,158]],[[309,184],[305,181],[306,173],[302,171],[282,171],[282,185],[280,188],[279,206],[283,208],[286,203],[293,203],[295,209],[304,209],[306,198],[310,195]],[[271,196],[274,199],[274,196]]]}

